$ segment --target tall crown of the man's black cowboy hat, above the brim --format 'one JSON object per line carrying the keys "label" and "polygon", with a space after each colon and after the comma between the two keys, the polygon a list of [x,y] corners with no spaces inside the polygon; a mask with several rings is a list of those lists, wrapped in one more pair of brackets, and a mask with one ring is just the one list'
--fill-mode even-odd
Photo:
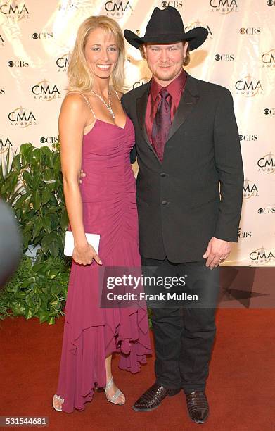
{"label": "tall crown of the man's black cowboy hat, above the brim", "polygon": [[181,14],[176,8],[155,8],[146,26],[145,36],[165,33],[185,32]]}

